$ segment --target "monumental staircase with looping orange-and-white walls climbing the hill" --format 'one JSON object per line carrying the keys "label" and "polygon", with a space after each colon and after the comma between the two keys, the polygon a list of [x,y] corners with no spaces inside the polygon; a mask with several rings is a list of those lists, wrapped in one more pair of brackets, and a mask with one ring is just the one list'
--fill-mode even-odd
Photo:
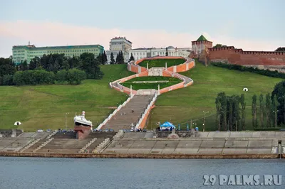
{"label": "monumental staircase with looping orange-and-white walls climbing the hill", "polygon": [[[110,82],[109,85],[115,90],[127,93],[130,97],[115,109],[115,111],[110,114],[109,117],[97,127],[97,129],[113,129],[114,131],[120,131],[122,129],[142,129],[146,124],[147,116],[154,105],[157,95],[192,85],[193,80],[190,77],[180,75],[178,72],[185,72],[195,67],[195,60],[193,59],[186,58],[185,63],[174,65],[169,68],[167,68],[167,63],[165,63],[165,67],[155,67],[150,69],[148,68],[148,63],[147,68],[143,68],[139,65],[143,60],[173,58],[181,57],[142,58],[141,60],[131,61],[128,63],[128,70],[135,72],[136,74]],[[135,77],[144,76],[177,77],[182,80],[182,82],[163,89],[160,89],[160,85],[158,85],[158,90],[133,90],[132,86],[128,88],[120,84]]]}

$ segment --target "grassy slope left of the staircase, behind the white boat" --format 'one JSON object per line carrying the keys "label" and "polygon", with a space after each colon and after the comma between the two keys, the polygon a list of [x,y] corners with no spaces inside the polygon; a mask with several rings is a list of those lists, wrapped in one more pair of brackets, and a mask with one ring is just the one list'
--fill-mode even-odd
{"label": "grassy slope left of the staircase, behind the white boat", "polygon": [[86,117],[96,126],[113,109],[128,98],[123,92],[109,87],[110,80],[133,75],[126,65],[103,65],[103,80],[84,80],[81,85],[36,85],[10,87],[0,86],[0,128],[16,128],[15,121],[21,121],[19,129],[73,128],[76,112],[86,111]]}

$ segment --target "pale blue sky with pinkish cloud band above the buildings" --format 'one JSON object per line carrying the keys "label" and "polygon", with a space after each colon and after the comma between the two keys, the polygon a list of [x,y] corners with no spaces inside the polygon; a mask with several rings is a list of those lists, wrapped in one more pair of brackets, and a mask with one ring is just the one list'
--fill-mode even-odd
{"label": "pale blue sky with pinkish cloud band above the buildings", "polygon": [[125,36],[140,47],[191,47],[203,33],[244,50],[285,46],[284,0],[1,0],[0,57],[13,45],[100,44]]}

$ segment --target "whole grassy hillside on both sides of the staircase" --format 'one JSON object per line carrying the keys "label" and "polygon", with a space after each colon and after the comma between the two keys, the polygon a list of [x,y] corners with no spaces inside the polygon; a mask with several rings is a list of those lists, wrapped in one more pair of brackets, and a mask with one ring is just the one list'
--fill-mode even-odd
{"label": "whole grassy hillside on both sides of the staircase", "polygon": [[[103,80],[85,80],[82,85],[38,85],[38,86],[0,86],[0,128],[16,128],[15,121],[23,124],[19,129],[35,131],[36,129],[58,129],[65,127],[65,116],[69,112],[68,128],[73,128],[75,113],[86,111],[86,117],[96,126],[128,98],[122,92],[111,89],[108,83],[121,77],[132,75],[126,65],[103,65]],[[266,77],[250,72],[239,72],[204,67],[197,63],[196,67],[182,73],[190,76],[194,84],[180,90],[166,92],[155,102],[151,112],[148,128],[154,128],[157,121],[171,121],[186,126],[190,119],[202,129],[204,111],[209,111],[206,118],[206,130],[215,130],[214,99],[219,92],[227,95],[242,94],[247,101],[247,128],[252,128],[251,104],[252,95],[271,92],[276,82],[281,79]],[[153,113],[153,114],[152,114]]]}

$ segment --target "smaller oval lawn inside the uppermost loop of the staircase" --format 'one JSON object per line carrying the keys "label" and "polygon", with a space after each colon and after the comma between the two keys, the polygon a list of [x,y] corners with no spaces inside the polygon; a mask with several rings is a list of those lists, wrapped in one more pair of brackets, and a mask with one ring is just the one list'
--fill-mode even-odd
{"label": "smaller oval lawn inside the uppermost loop of the staircase", "polygon": [[167,67],[173,66],[173,65],[180,65],[182,63],[185,63],[185,59],[156,59],[156,60],[143,60],[141,63],[139,63],[140,66],[147,68],[152,67],[165,67],[165,63],[167,63]]}

